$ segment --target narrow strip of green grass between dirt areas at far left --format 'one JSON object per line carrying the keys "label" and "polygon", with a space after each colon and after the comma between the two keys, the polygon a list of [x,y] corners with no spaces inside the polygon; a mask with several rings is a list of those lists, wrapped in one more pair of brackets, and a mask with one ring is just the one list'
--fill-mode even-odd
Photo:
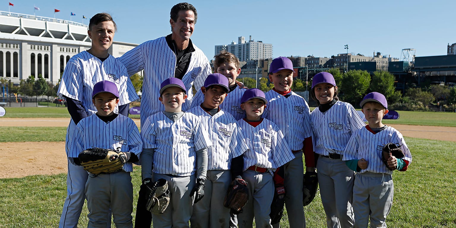
{"label": "narrow strip of green grass between dirt areas at far left", "polygon": [[0,142],[58,142],[66,134],[66,127],[0,127]]}

